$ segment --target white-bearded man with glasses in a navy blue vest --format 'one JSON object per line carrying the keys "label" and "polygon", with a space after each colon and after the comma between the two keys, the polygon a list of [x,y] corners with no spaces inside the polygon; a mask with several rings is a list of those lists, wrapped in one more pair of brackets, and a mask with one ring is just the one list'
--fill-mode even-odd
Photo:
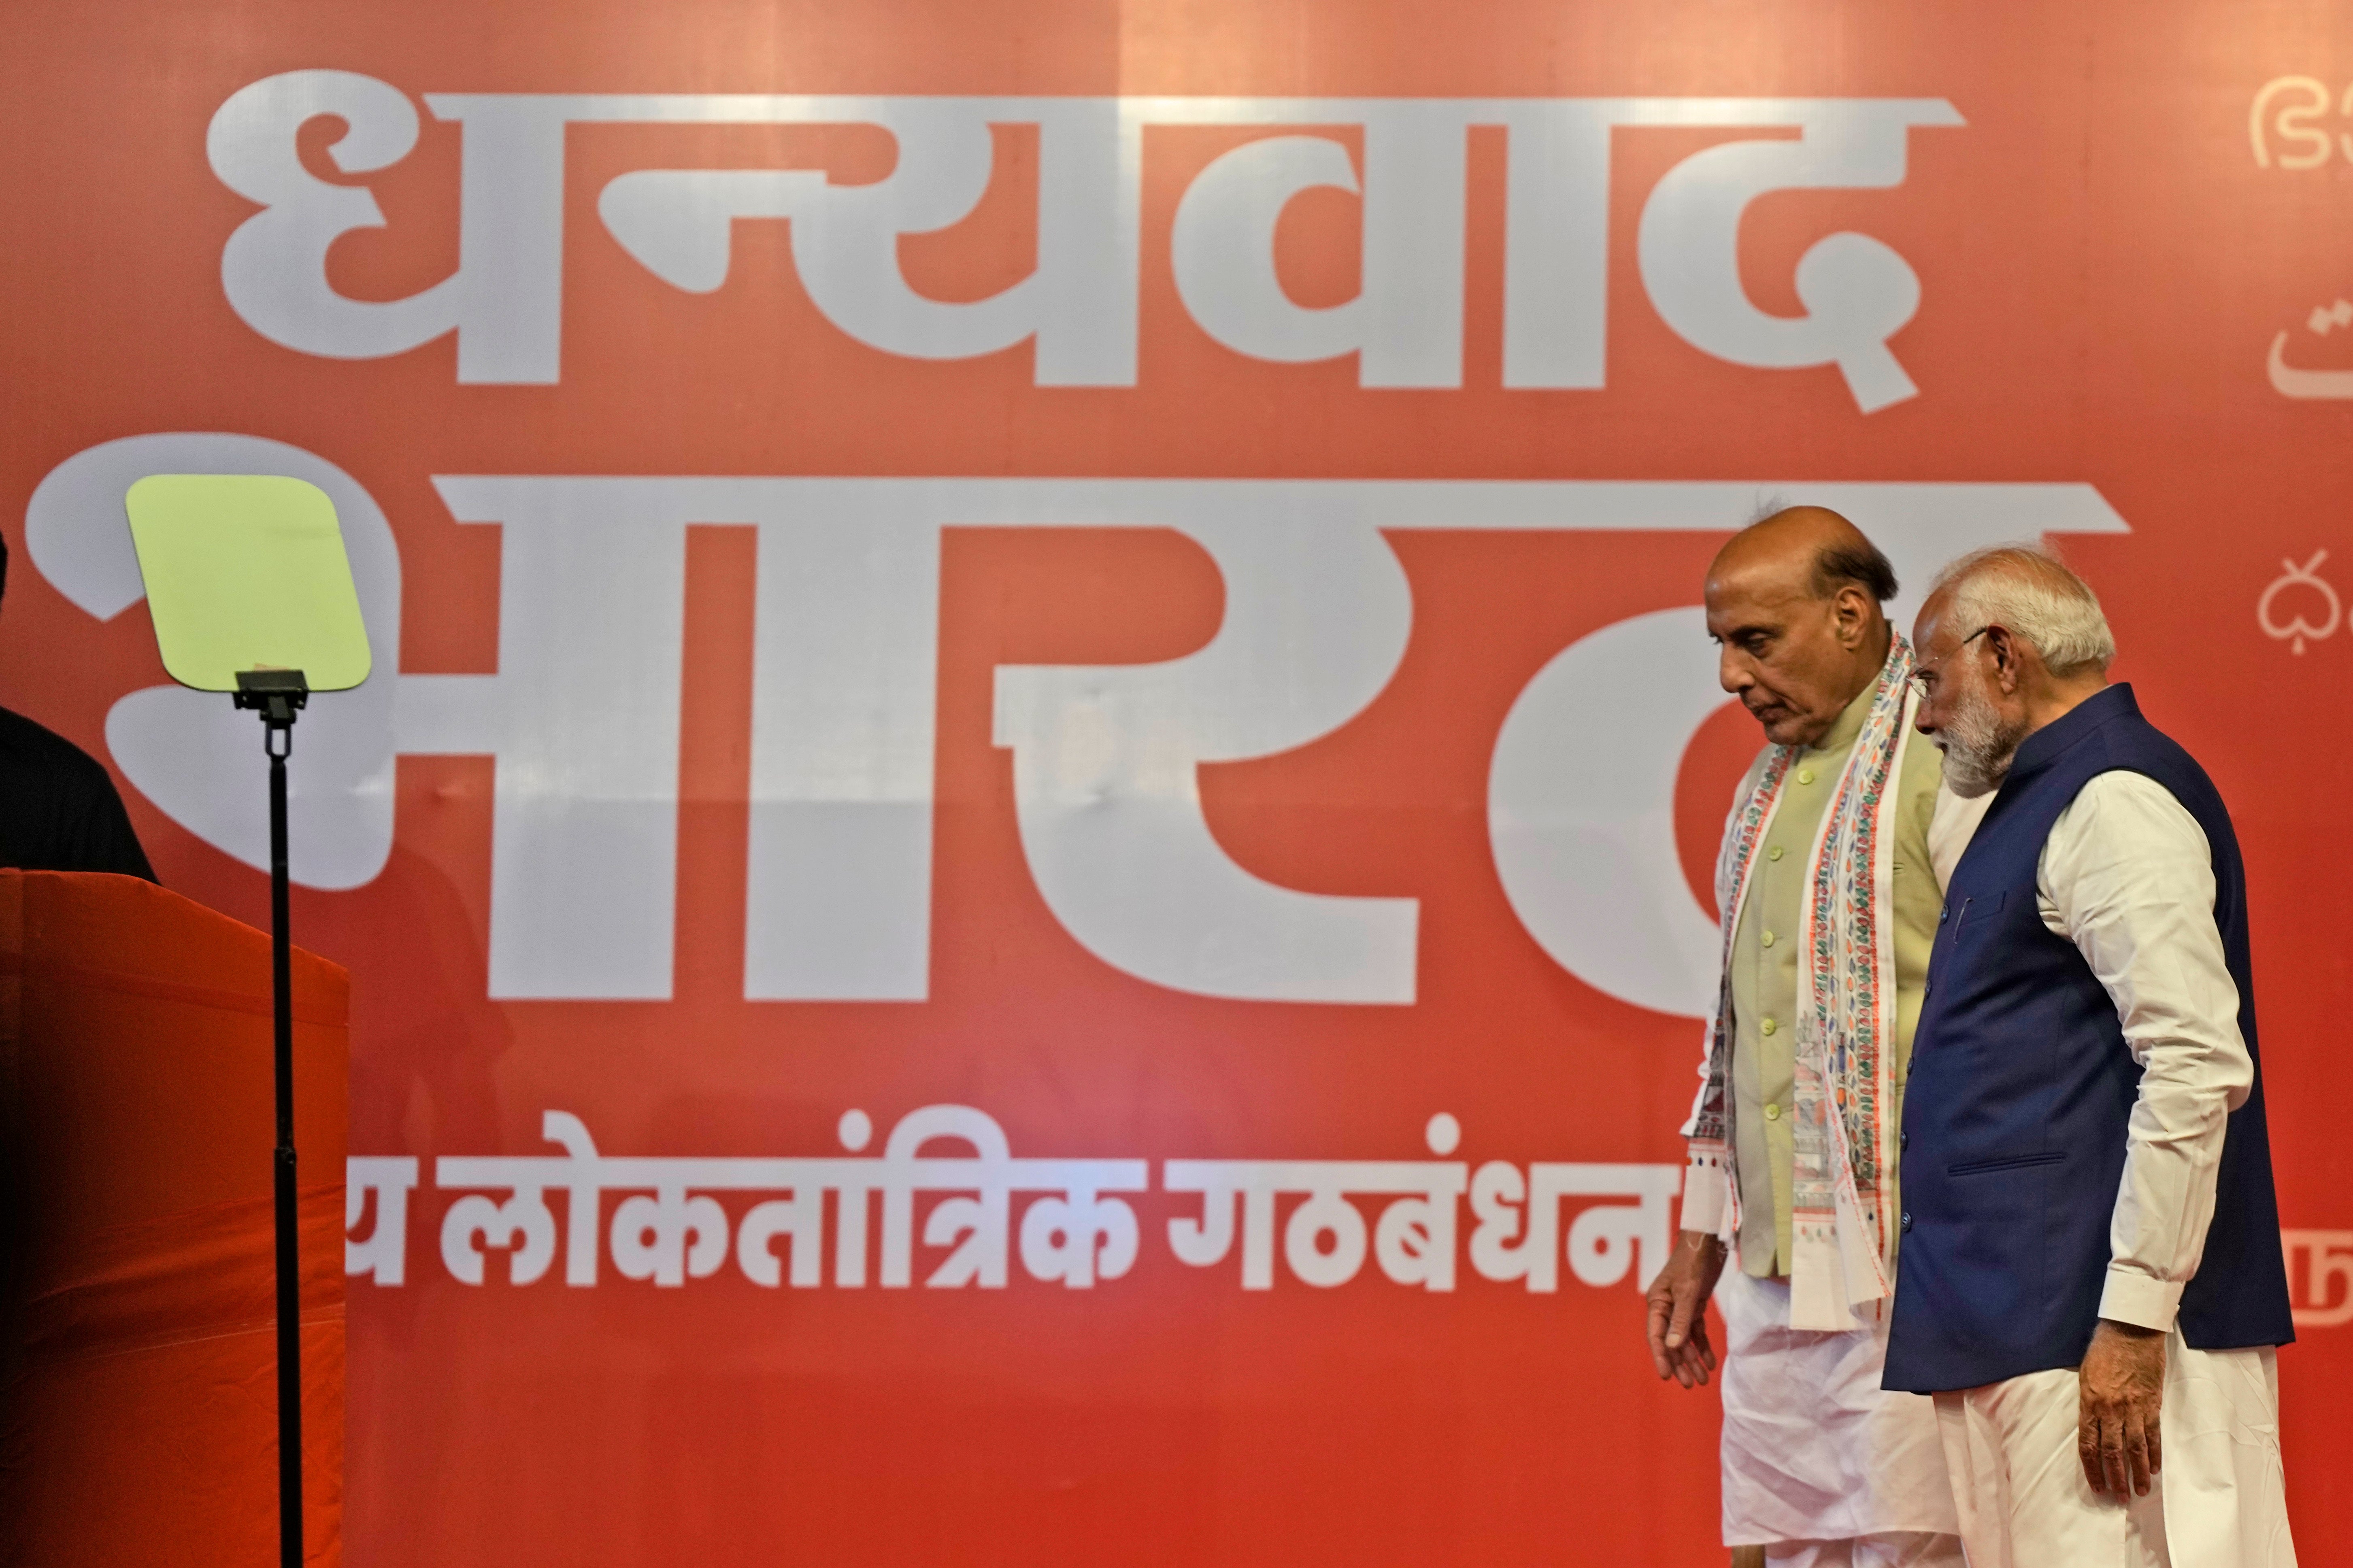
{"label": "white-bearded man with glasses in a navy blue vest", "polygon": [[2292,1566],[2231,813],[2057,559],[1962,557],[1915,635],[1918,726],[1988,806],[1911,1058],[1885,1387],[1934,1394],[1972,1568]]}

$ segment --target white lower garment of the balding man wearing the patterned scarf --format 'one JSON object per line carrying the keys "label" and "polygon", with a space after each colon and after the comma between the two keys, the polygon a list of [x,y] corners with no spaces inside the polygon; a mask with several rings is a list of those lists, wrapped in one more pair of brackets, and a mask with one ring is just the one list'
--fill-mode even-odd
{"label": "white lower garment of the balding man wearing the patterned scarf", "polygon": [[[1960,1568],[1937,1410],[1880,1389],[1887,1314],[1849,1333],[1788,1326],[1788,1281],[1739,1265],[1725,1314],[1725,1544],[1793,1568]],[[1922,1540],[1925,1537],[1925,1540]]]}

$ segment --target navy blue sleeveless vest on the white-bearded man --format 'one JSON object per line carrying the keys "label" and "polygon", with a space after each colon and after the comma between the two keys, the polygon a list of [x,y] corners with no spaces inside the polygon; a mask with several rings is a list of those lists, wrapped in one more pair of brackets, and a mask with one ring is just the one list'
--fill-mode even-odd
{"label": "navy blue sleeveless vest on the white-bearded man", "polygon": [[[2035,863],[2075,792],[2111,769],[2155,778],[2205,830],[2238,1027],[2257,1056],[2231,813],[2205,769],[2141,717],[2132,689],[2108,686],[2019,745],[1946,889],[1904,1091],[1889,1389],[1969,1389],[2080,1366],[2092,1342],[2141,1067],[2092,966],[2042,924]],[[2294,1338],[2261,1056],[2254,1091],[2231,1114],[2214,1225],[2179,1326],[2198,1349]]]}

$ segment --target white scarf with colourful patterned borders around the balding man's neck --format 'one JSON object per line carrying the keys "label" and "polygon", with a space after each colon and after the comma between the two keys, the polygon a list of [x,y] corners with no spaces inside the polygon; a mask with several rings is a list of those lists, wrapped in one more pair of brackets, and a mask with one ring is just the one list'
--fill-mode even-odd
{"label": "white scarf with colourful patterned borders around the balding man's neck", "polygon": [[[1913,736],[1911,672],[1911,644],[1897,635],[1807,860],[1791,1126],[1791,1328],[1857,1328],[1854,1307],[1894,1293],[1894,830],[1887,816]],[[1748,898],[1751,860],[1772,827],[1795,757],[1798,748],[1767,750],[1755,785],[1725,823],[1715,863],[1715,898],[1725,912],[1722,985],[1685,1135],[1692,1164],[1722,1173],[1722,1239],[1732,1246],[1741,1229],[1732,1164],[1732,936]]]}

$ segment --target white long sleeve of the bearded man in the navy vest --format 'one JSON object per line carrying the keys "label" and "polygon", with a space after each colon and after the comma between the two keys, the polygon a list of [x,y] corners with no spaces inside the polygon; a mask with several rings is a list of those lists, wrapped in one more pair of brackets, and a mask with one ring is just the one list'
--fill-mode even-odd
{"label": "white long sleeve of the bearded man in the navy vest", "polygon": [[2254,1086],[2212,851],[2165,785],[2115,771],[2059,813],[2035,872],[2042,924],[2092,964],[2141,1063],[2099,1314],[2167,1331],[2214,1218],[2226,1119]]}

